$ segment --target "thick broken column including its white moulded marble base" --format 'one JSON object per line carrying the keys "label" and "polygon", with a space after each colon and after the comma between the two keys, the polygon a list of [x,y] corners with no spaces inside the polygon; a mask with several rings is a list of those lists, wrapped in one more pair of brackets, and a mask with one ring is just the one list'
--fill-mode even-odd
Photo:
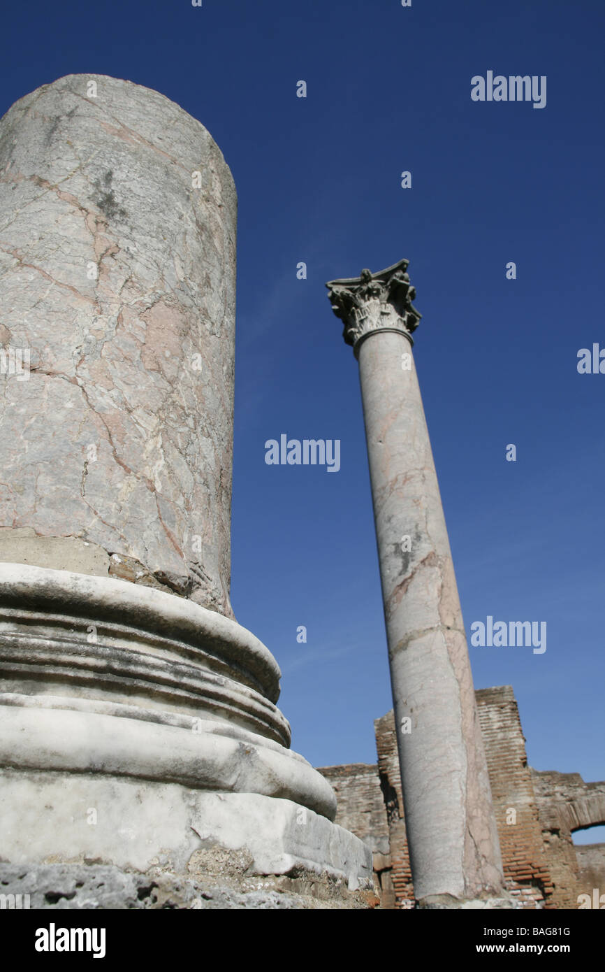
{"label": "thick broken column including its white moulded marble base", "polygon": [[229,603],[236,192],[157,91],[0,122],[0,868],[371,883]]}

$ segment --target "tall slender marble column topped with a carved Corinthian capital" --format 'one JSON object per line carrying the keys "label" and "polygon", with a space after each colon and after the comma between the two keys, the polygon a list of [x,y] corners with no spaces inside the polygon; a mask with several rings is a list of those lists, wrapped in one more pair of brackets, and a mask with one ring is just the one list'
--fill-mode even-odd
{"label": "tall slender marble column topped with a carved Corinthian capital", "polygon": [[326,286],[359,362],[406,829],[417,901],[502,893],[452,553],[412,355],[408,260]]}

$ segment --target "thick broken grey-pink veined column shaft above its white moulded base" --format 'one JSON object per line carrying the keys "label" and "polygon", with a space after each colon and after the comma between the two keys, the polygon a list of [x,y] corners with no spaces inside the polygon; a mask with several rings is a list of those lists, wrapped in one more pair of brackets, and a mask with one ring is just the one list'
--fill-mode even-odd
{"label": "thick broken grey-pink veined column shaft above its white moulded base", "polygon": [[231,614],[235,219],[209,133],[146,87],[70,75],[0,121],[0,524],[54,538],[19,562],[117,555]]}

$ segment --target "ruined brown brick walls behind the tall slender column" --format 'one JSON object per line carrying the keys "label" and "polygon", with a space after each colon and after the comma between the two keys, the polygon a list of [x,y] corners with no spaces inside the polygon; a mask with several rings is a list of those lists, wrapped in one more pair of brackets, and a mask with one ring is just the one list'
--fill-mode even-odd
{"label": "ruined brown brick walls behind the tall slender column", "polygon": [[[575,847],[572,839],[574,830],[605,823],[605,781],[533,770],[512,687],[479,689],[476,698],[507,887],[524,908],[578,908],[581,894],[594,907],[601,893],[605,907],[605,844]],[[381,906],[408,909],[414,886],[393,712],[374,727],[378,764],[319,772],[336,791],[336,822],[373,852]]]}

